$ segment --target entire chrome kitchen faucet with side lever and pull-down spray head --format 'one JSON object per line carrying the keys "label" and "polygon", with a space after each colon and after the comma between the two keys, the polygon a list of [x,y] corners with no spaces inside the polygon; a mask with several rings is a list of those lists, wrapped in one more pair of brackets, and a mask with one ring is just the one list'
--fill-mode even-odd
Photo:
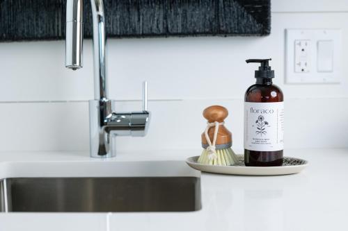
{"label": "entire chrome kitchen faucet with side lever and pull-down spray head", "polygon": [[[145,136],[150,123],[147,83],[143,83],[143,110],[115,112],[108,97],[106,34],[102,0],[90,0],[93,15],[94,100],[89,101],[90,156],[116,155],[115,137]],[[77,70],[82,64],[83,0],[68,0],[66,10],[65,67]]]}

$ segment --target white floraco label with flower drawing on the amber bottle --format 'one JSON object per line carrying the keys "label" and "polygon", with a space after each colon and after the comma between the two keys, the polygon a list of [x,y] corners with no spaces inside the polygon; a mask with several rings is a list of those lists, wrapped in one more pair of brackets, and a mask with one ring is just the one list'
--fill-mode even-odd
{"label": "white floraco label with flower drawing on the amber bottle", "polygon": [[244,103],[244,148],[280,151],[284,146],[284,102]]}

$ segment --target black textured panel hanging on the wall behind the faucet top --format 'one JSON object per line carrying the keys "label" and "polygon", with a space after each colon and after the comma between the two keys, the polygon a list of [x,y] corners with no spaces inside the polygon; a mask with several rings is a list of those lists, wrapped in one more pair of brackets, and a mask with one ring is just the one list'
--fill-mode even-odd
{"label": "black textured panel hanging on the wall behind the faucet top", "polygon": [[[109,37],[268,35],[270,0],[104,0]],[[84,35],[92,35],[84,1]],[[0,0],[0,40],[61,40],[65,0]]]}

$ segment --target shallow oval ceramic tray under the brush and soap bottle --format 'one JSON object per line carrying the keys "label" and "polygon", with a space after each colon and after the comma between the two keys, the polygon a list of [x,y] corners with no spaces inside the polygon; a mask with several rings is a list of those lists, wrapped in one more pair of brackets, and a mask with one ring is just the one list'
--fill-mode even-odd
{"label": "shallow oval ceramic tray under the brush and soap bottle", "polygon": [[207,173],[222,173],[230,175],[248,175],[248,176],[274,176],[299,173],[308,166],[307,160],[294,157],[284,157],[283,166],[255,167],[244,165],[244,155],[237,155],[238,164],[233,166],[216,166],[207,164],[198,164],[199,156],[187,158],[186,162],[193,169],[205,171]]}

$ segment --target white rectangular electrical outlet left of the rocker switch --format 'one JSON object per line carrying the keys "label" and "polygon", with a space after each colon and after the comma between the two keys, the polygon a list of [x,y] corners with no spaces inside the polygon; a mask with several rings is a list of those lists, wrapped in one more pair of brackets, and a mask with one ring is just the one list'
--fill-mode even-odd
{"label": "white rectangular electrical outlet left of the rocker switch", "polygon": [[310,40],[295,40],[295,72],[310,72]]}

